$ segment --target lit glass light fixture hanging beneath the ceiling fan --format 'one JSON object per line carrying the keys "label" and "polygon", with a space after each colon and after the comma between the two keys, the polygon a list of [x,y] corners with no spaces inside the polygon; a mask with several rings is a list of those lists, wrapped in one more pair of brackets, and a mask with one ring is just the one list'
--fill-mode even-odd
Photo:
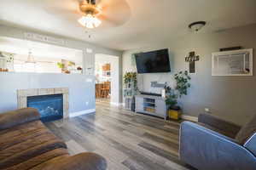
{"label": "lit glass light fixture hanging beneath the ceiling fan", "polygon": [[102,24],[102,21],[97,19],[93,14],[85,14],[79,20],[79,23],[86,28],[96,28]]}

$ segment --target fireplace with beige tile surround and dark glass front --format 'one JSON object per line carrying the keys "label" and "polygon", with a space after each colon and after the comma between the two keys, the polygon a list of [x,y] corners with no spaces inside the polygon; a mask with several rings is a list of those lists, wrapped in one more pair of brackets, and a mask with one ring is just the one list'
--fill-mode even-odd
{"label": "fireplace with beige tile surround and dark glass front", "polygon": [[69,116],[68,88],[30,88],[17,90],[18,108],[38,109],[43,122]]}

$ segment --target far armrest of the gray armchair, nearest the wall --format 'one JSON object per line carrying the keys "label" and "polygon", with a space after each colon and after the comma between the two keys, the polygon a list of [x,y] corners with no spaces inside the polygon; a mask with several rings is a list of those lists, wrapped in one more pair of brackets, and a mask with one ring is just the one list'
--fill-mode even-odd
{"label": "far armrest of the gray armchair, nearest the wall", "polygon": [[210,114],[200,114],[198,116],[198,122],[205,123],[209,126],[218,128],[219,130],[228,132],[233,136],[236,137],[236,134],[240,131],[241,127],[239,125],[236,125],[233,122],[225,121],[223,119],[220,119],[218,116],[213,116]]}

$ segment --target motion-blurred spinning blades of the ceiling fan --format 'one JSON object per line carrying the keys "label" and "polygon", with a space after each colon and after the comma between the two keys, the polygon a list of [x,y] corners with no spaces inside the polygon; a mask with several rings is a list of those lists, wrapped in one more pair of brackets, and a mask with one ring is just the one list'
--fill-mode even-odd
{"label": "motion-blurred spinning blades of the ceiling fan", "polygon": [[[77,22],[83,15],[79,8],[79,4],[83,2],[87,3],[87,0],[53,1],[45,10],[49,14]],[[101,13],[96,15],[102,20],[101,27],[121,26],[131,17],[131,8],[125,0],[95,0],[95,3],[101,8]]]}

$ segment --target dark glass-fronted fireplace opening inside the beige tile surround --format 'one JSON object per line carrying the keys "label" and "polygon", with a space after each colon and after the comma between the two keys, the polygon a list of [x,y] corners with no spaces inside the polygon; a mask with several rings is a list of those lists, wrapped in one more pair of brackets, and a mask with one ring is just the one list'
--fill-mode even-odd
{"label": "dark glass-fronted fireplace opening inside the beige tile surround", "polygon": [[39,95],[27,97],[27,107],[38,109],[42,122],[51,122],[63,117],[63,95]]}

